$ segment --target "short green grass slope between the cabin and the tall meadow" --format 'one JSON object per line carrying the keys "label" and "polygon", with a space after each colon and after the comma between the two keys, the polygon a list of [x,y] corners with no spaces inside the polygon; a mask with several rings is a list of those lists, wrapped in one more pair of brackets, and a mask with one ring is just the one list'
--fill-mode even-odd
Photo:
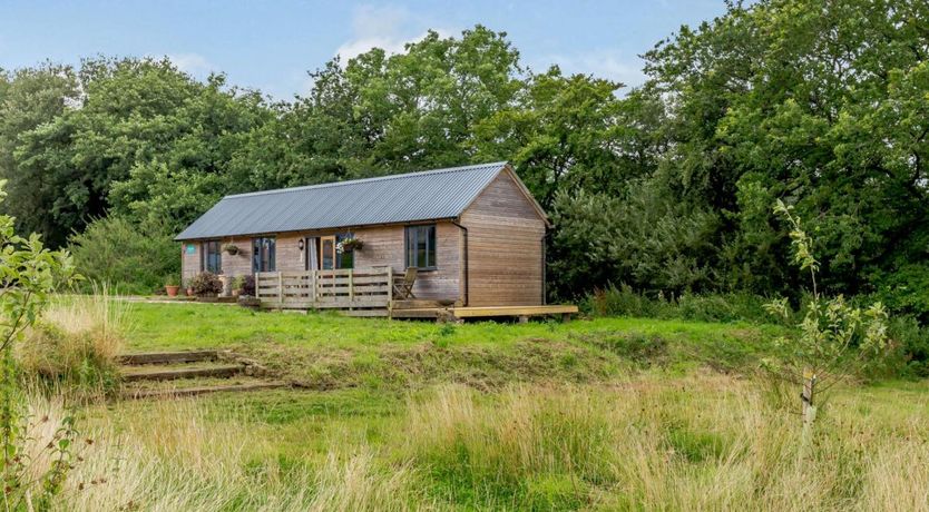
{"label": "short green grass slope between the cabin and the tall meadow", "polygon": [[303,386],[600,382],[633,367],[744,371],[783,329],[642,318],[437,325],[198,304],[138,304],[130,351],[227,347]]}

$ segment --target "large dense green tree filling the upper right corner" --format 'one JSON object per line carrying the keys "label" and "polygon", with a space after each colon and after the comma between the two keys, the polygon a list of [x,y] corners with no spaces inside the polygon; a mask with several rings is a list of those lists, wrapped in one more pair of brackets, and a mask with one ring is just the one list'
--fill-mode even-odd
{"label": "large dense green tree filling the upper right corner", "polygon": [[796,279],[767,210],[781,196],[810,219],[837,292],[926,260],[927,20],[907,0],[733,4],[647,55],[669,108],[668,190],[725,220],[717,286]]}

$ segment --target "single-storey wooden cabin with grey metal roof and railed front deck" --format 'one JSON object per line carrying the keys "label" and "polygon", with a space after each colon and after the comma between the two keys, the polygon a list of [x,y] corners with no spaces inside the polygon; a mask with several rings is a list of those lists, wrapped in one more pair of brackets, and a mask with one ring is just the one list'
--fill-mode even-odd
{"label": "single-storey wooden cabin with grey metal roof and railed front deck", "polygon": [[[271,306],[373,315],[542,306],[548,227],[496,163],[226,196],[176,239],[185,279],[252,274]],[[398,297],[409,268],[411,294]]]}

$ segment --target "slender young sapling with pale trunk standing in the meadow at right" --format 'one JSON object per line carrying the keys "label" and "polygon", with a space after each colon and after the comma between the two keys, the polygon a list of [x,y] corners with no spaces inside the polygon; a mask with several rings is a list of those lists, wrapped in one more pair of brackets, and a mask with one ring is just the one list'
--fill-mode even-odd
{"label": "slender young sapling with pale trunk standing in the meadow at right", "polygon": [[[862,308],[849,305],[842,295],[821,295],[816,283],[820,262],[813,255],[813,239],[793,214],[792,206],[779,199],[774,213],[790,226],[793,263],[801,272],[809,273],[811,295],[796,334],[775,342],[781,348],[780,360],[766,360],[764,364],[775,376],[802,386],[801,412],[803,424],[809,426],[824,393],[837,383],[880,364],[888,355],[888,315],[879,302]],[[791,317],[785,298],[775,299],[765,308],[784,318]]]}

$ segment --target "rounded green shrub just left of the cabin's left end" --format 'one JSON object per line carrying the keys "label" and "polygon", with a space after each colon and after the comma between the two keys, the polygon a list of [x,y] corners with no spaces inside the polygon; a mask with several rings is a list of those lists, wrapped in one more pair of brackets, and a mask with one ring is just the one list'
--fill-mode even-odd
{"label": "rounded green shrub just left of the cabin's left end", "polygon": [[149,294],[165,276],[180,274],[177,243],[166,229],[144,229],[123,217],[94,220],[71,236],[69,249],[81,275],[120,293]]}

